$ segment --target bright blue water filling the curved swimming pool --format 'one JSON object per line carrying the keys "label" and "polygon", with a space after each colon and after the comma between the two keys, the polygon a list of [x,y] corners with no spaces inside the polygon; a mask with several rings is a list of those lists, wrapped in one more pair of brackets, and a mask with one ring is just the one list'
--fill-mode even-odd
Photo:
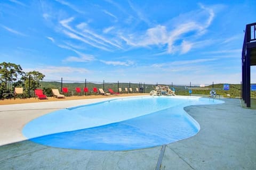
{"label": "bright blue water filling the curved swimming pool", "polygon": [[183,107],[220,104],[190,97],[137,97],[61,109],[29,122],[23,135],[36,143],[69,149],[132,150],[195,135],[199,124]]}

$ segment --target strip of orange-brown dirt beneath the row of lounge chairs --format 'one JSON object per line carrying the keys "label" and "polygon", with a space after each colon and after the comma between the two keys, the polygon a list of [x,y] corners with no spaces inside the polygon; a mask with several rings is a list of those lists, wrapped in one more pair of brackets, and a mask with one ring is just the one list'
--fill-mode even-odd
{"label": "strip of orange-brown dirt beneath the row of lounge chairs", "polygon": [[[149,95],[149,94],[121,94],[118,96],[126,97],[126,96],[141,96],[141,95]],[[117,95],[90,95],[90,96],[71,96],[65,98],[55,98],[55,97],[47,97],[47,99],[38,99],[38,98],[26,98],[20,99],[16,98],[12,99],[4,99],[0,100],[0,105],[11,105],[11,104],[22,104],[22,103],[36,103],[36,102],[45,102],[45,101],[61,101],[61,100],[78,100],[78,99],[95,99],[95,98],[109,98],[109,97],[117,97]]]}

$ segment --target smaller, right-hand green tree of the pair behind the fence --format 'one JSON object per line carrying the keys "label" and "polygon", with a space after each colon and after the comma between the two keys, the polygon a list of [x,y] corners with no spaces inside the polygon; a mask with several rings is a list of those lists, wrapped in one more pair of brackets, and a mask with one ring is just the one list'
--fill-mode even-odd
{"label": "smaller, right-hand green tree of the pair behind the fence", "polygon": [[[29,94],[29,91],[34,91],[35,89],[40,87],[40,80],[43,80],[45,77],[44,74],[38,71],[30,71],[25,73],[21,78],[25,84],[25,93]],[[28,96],[29,97],[29,96]]]}

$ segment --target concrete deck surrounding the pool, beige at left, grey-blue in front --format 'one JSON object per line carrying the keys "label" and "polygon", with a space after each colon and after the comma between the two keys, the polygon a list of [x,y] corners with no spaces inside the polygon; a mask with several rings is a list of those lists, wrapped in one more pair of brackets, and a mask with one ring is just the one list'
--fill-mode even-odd
{"label": "concrete deck surrounding the pool, beige at left, grey-blue in front", "polygon": [[239,99],[186,107],[201,130],[166,145],[164,152],[162,146],[116,152],[60,149],[30,142],[21,133],[38,116],[106,99],[1,105],[0,169],[156,169],[161,154],[159,169],[256,169],[256,110],[242,108]]}

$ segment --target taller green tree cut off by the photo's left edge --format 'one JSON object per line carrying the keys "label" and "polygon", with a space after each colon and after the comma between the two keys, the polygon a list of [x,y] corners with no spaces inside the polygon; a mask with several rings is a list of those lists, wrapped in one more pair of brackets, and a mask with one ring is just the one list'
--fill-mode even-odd
{"label": "taller green tree cut off by the photo's left edge", "polygon": [[3,93],[11,92],[12,89],[7,89],[8,82],[16,81],[18,75],[23,75],[24,72],[20,65],[14,63],[0,63],[0,97]]}

